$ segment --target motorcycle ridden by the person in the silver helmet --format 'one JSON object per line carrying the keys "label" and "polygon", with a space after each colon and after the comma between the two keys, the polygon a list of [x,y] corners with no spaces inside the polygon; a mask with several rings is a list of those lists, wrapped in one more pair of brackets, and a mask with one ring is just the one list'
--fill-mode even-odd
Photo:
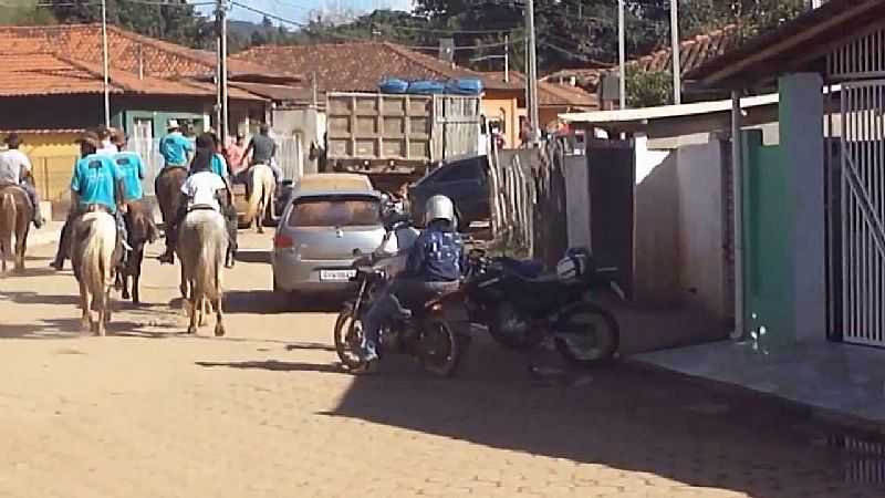
{"label": "motorcycle ridden by the person in the silver helmet", "polygon": [[[388,246],[389,239],[397,231],[402,234],[406,225],[406,221],[398,221],[388,227],[379,250],[367,256],[354,255],[357,256],[353,264],[356,276],[352,280],[358,282],[360,290],[356,298],[346,302],[339,312],[334,331],[335,352],[346,370],[361,372],[368,366],[361,354],[365,338],[361,318],[372,307],[378,292],[389,283],[395,269],[402,267],[395,260],[403,256],[391,256],[383,248]],[[468,338],[455,331],[446,320],[444,302],[458,292],[430,299],[423,307],[413,309],[410,318],[388,320],[381,330],[378,354],[406,354],[417,360],[430,373],[439,376],[452,375],[460,363]]]}

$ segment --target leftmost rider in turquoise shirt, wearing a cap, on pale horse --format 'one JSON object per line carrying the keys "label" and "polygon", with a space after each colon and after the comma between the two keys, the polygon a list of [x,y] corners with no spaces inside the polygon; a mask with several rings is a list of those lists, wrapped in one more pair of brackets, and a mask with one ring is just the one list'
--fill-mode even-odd
{"label": "leftmost rider in turquoise shirt, wearing a cap, on pale horse", "polygon": [[74,174],[71,178],[71,210],[67,214],[67,221],[62,228],[55,260],[50,263],[56,270],[64,267],[72,221],[80,215],[94,209],[105,210],[114,216],[117,222],[117,240],[123,242],[124,249],[129,249],[125,243],[126,225],[123,220],[122,209],[119,209],[123,205],[125,188],[123,173],[111,156],[98,154],[102,141],[97,134],[87,132],[77,143],[81,158],[74,164]]}

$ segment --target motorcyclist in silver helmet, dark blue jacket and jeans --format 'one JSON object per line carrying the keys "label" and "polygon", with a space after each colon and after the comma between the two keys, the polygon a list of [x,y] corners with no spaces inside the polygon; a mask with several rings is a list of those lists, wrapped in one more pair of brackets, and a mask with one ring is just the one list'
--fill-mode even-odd
{"label": "motorcyclist in silver helmet, dark blue jacket and jeans", "polygon": [[460,284],[462,243],[455,231],[455,205],[446,196],[433,196],[427,199],[425,212],[427,226],[408,248],[406,269],[363,317],[363,360],[368,365],[378,359],[378,340],[385,322],[397,315],[407,318],[408,308],[423,305],[428,298]]}

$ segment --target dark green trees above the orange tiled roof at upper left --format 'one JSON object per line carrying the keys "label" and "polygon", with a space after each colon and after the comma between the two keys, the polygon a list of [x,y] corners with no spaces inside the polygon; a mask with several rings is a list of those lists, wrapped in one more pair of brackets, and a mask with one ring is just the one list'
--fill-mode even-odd
{"label": "dark green trees above the orange tiled roof at upper left", "polygon": [[[214,29],[185,0],[168,4],[133,3],[107,0],[107,22],[152,38],[174,43],[208,48],[214,44]],[[92,0],[52,0],[52,12],[60,22],[101,22],[101,6]]]}

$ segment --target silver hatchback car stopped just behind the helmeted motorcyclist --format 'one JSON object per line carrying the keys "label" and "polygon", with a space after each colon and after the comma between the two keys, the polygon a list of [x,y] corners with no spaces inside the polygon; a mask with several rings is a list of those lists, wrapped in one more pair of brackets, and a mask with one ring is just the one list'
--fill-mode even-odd
{"label": "silver hatchback car stopped just behind the helmeted motorcyclist", "polygon": [[353,287],[358,249],[384,241],[381,193],[364,189],[296,189],[273,238],[273,290],[342,292]]}

